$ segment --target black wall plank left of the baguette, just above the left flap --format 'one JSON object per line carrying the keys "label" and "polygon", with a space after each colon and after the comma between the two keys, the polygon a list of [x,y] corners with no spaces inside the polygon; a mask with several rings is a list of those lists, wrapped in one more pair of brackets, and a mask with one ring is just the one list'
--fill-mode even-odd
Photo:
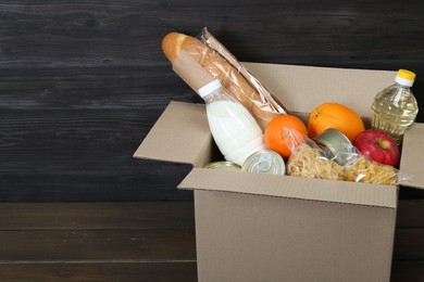
{"label": "black wall plank left of the baguette, just above the left flap", "polygon": [[133,108],[146,117],[145,110],[163,110],[170,100],[201,102],[165,62],[30,69],[0,65],[0,105],[8,110]]}

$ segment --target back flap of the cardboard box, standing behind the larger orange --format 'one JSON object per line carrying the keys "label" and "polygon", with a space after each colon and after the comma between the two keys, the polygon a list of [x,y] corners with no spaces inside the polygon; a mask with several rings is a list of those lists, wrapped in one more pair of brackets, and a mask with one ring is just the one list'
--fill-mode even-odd
{"label": "back flap of the cardboard box, standing behind the larger orange", "polygon": [[[244,63],[287,107],[310,113],[325,102],[348,105],[371,117],[374,95],[395,82],[396,72]],[[360,103],[358,102],[360,101]]]}

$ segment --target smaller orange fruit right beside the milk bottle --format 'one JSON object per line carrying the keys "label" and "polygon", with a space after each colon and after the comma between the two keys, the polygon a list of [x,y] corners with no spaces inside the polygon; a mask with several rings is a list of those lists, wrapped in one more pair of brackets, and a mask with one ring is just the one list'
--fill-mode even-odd
{"label": "smaller orange fruit right beside the milk bottle", "polygon": [[[292,139],[286,136],[285,128],[296,130],[304,137],[308,137],[308,129],[302,120],[292,115],[279,115],[271,119],[263,133],[265,146],[280,154],[284,158],[291,155],[289,146],[296,144],[296,136]],[[295,143],[294,143],[295,141]]]}

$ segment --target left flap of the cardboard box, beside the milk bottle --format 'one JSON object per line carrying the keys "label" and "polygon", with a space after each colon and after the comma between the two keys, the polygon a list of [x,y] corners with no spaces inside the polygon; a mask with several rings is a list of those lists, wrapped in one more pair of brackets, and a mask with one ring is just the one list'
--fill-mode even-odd
{"label": "left flap of the cardboard box, beside the milk bottle", "polygon": [[195,165],[212,143],[204,105],[171,102],[134,157]]}

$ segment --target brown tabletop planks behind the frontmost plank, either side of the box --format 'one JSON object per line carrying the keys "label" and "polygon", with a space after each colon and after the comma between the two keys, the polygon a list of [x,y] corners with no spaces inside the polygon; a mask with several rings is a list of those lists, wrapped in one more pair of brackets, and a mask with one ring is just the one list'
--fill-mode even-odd
{"label": "brown tabletop planks behind the frontmost plank, either side of the box", "polygon": [[[422,219],[410,219],[422,201],[410,202],[399,203],[395,261],[424,259]],[[196,259],[192,202],[4,203],[0,215],[0,264]]]}

